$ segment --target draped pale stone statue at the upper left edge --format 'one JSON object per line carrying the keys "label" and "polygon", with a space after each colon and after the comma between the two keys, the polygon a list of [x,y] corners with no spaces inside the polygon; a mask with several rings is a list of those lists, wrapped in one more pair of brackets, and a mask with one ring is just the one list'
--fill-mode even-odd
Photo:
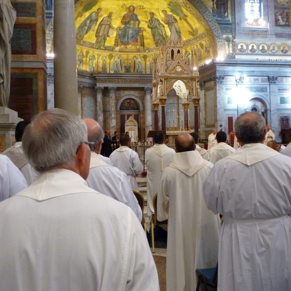
{"label": "draped pale stone statue at the upper left edge", "polygon": [[10,95],[10,39],[16,11],[9,0],[0,1],[0,106],[7,107]]}

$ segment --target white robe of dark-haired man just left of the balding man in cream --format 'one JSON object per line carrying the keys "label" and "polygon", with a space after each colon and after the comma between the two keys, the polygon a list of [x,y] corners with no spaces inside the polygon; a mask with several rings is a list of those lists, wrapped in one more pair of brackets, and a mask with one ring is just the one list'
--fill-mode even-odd
{"label": "white robe of dark-haired man just left of the balding man in cream", "polygon": [[147,166],[146,174],[146,193],[147,193],[147,215],[150,217],[154,211],[153,198],[158,192],[159,183],[162,175],[162,171],[171,162],[175,150],[166,146],[155,144],[148,148],[145,154],[145,163]]}

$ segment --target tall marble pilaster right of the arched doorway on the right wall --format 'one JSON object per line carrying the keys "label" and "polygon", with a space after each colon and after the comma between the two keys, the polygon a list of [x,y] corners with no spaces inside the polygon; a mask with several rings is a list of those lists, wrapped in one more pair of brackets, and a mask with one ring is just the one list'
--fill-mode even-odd
{"label": "tall marble pilaster right of the arched doorway on the right wall", "polygon": [[[279,136],[279,129],[278,129],[278,119],[277,119],[277,79],[278,77],[272,76],[268,77],[269,84],[270,84],[270,111],[271,116],[270,118],[267,116],[266,123],[269,123],[271,126],[272,131],[275,134],[275,137],[278,138]],[[267,108],[269,109],[269,108]]]}

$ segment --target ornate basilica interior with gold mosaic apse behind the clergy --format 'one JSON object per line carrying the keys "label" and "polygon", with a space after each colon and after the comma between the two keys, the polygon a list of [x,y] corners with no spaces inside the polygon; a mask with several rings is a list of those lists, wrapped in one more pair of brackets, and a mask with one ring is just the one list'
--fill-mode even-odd
{"label": "ornate basilica interior with gold mosaic apse behind the clergy", "polygon": [[59,107],[124,133],[131,117],[134,140],[162,129],[169,144],[181,131],[229,134],[246,111],[263,114],[279,142],[290,128],[286,1],[11,2],[8,107],[24,120]]}

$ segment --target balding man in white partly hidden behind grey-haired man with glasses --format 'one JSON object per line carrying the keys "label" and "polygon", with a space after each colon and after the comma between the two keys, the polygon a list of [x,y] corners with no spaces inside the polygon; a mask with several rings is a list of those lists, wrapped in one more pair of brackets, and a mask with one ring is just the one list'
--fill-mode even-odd
{"label": "balding man in white partly hidden behind grey-haired man with glasses", "polygon": [[92,146],[90,171],[86,180],[88,186],[129,206],[142,221],[142,210],[131,190],[126,174],[100,158],[103,157],[100,155],[104,138],[103,129],[94,119],[85,118],[83,121],[87,126],[88,141],[95,143]]}

